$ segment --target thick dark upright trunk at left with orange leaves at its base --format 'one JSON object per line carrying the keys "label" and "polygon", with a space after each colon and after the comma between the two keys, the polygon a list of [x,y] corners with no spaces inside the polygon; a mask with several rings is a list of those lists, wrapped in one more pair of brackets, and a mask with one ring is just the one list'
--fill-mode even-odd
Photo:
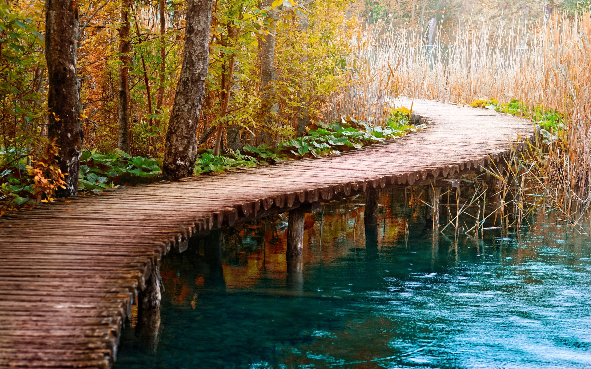
{"label": "thick dark upright trunk at left with orange leaves at its base", "polygon": [[79,160],[82,152],[80,125],[80,82],[77,76],[78,11],[72,0],[47,0],[46,59],[48,74],[48,132],[60,146],[58,163],[66,174],[66,188],[57,197],[78,191]]}

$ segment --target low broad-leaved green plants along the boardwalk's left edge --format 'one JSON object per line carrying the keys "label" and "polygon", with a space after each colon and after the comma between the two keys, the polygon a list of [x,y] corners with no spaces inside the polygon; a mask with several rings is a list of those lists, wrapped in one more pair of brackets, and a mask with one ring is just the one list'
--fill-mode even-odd
{"label": "low broad-leaved green plants along the boardwalk's left edge", "polygon": [[[330,124],[318,122],[306,136],[289,139],[277,148],[268,145],[250,146],[240,152],[213,155],[211,149],[201,149],[194,174],[221,173],[238,167],[269,165],[274,162],[338,155],[385,139],[404,136],[424,128],[409,121],[410,111],[404,107],[392,109],[384,127],[371,126],[352,117],[343,117]],[[64,184],[63,175],[54,158],[55,145],[40,148],[42,153],[8,148],[0,151],[0,215],[22,207],[32,207],[38,201],[54,200],[57,188]],[[31,161],[31,158],[41,158]],[[78,190],[82,193],[100,192],[120,185],[137,185],[161,178],[162,159],[131,156],[116,149],[100,154],[96,149],[85,150],[80,157]]]}

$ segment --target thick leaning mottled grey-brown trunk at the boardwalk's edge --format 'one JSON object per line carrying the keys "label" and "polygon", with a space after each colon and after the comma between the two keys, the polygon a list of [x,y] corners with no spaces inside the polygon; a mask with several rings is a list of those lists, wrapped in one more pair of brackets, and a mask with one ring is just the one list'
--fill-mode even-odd
{"label": "thick leaning mottled grey-brown trunk at the boardwalk's edge", "polygon": [[180,179],[193,174],[197,158],[197,121],[209,63],[209,25],[213,0],[187,1],[183,67],[174,96],[164,152],[163,176]]}

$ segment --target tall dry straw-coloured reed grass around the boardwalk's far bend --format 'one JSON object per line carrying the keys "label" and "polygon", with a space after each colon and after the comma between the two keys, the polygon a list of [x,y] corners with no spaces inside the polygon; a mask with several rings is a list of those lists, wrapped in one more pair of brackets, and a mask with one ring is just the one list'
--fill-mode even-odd
{"label": "tall dry straw-coloured reed grass around the boardwalk's far bend", "polygon": [[424,27],[365,27],[353,40],[349,89],[333,112],[379,123],[397,96],[460,104],[515,98],[563,112],[567,134],[515,153],[516,172],[503,179],[580,221],[591,203],[591,18],[559,14],[536,27],[523,24],[519,17],[498,25],[466,21],[439,30],[433,45],[426,45]]}

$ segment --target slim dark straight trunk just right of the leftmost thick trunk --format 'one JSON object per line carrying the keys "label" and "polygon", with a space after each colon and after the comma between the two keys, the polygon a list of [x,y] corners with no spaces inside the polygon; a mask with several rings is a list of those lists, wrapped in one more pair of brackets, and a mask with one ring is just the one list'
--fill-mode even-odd
{"label": "slim dark straight trunk just right of the leftmost thick trunk", "polygon": [[129,154],[129,8],[131,0],[124,0],[119,26],[119,149]]}

